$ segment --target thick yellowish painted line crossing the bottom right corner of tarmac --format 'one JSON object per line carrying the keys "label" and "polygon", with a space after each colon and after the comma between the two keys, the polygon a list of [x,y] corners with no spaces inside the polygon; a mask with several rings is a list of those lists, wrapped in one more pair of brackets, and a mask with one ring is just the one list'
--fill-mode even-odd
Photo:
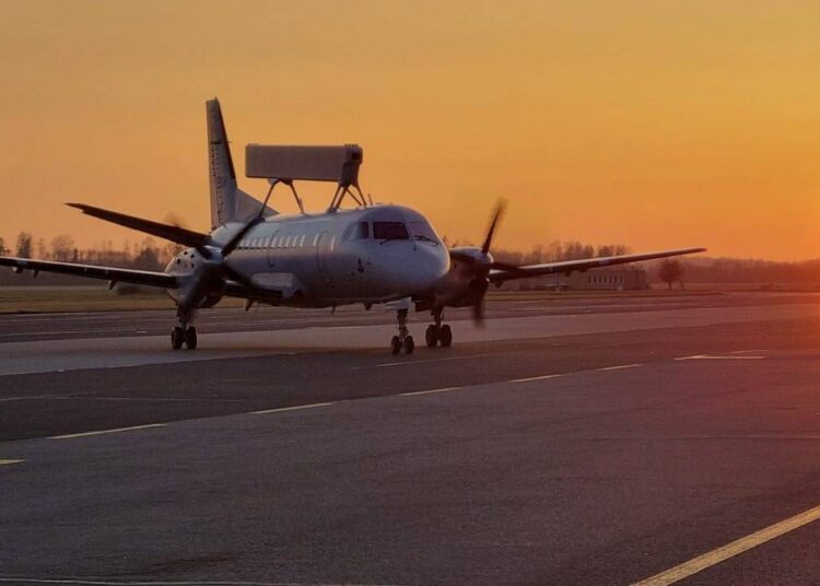
{"label": "thick yellowish painted line crossing the bottom right corner of tarmac", "polygon": [[675,584],[676,582],[687,578],[692,574],[696,574],[698,572],[726,561],[729,558],[734,558],[739,553],[743,553],[747,550],[765,543],[766,541],[771,541],[776,537],[785,535],[789,531],[794,531],[795,529],[803,527],[804,525],[808,525],[809,523],[812,523],[819,518],[820,506],[816,506],[815,508],[805,511],[799,515],[795,515],[794,517],[790,517],[786,520],[775,523],[774,525],[771,525],[765,529],[761,529],[760,531],[755,531],[751,535],[742,537],[736,541],[733,541],[731,543],[727,543],[722,548],[717,548],[716,550],[712,550],[708,553],[699,555],[693,560],[684,562],[680,565],[676,565],[675,567],[671,567],[666,572],[661,572],[660,574],[656,574],[641,582],[636,582],[633,586],[666,586],[668,584]]}

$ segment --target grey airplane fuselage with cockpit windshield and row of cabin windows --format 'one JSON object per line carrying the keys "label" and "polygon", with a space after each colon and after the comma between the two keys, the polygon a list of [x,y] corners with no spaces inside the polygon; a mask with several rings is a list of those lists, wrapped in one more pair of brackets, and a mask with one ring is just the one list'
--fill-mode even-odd
{"label": "grey airplane fuselage with cockpit windshield and row of cabin windows", "polygon": [[[218,227],[211,235],[214,244],[226,243],[242,225]],[[208,263],[190,248],[166,272],[190,274]],[[245,235],[227,265],[260,290],[279,292],[259,301],[327,307],[430,296],[445,281],[450,258],[422,214],[401,206],[374,206],[270,216]],[[202,305],[215,304],[221,293],[210,292]],[[169,294],[179,298],[185,286]]]}

